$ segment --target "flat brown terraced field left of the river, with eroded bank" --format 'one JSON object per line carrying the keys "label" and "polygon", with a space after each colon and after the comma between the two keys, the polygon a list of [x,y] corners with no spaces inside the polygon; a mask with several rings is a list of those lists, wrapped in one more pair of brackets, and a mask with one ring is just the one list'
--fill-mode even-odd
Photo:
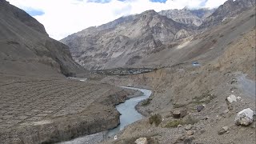
{"label": "flat brown terraced field left of the river, with eroded bank", "polygon": [[[64,78],[1,83],[0,143],[58,142],[109,129],[119,122],[114,104],[127,95],[110,85]],[[25,137],[26,131],[36,131],[39,138]]]}

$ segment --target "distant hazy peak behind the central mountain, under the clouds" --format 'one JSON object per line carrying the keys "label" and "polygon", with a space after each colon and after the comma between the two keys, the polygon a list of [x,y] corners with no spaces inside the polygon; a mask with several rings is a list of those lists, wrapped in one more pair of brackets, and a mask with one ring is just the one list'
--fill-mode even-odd
{"label": "distant hazy peak behind the central mountain, under the clouds", "polygon": [[198,9],[198,10],[189,10],[184,8],[182,10],[162,10],[159,14],[171,18],[176,22],[182,22],[194,26],[202,25],[202,22],[205,18],[209,17],[213,10],[210,9]]}

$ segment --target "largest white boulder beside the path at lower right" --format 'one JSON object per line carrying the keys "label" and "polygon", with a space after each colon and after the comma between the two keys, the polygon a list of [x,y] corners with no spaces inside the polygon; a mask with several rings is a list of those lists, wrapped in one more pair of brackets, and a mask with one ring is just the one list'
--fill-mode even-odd
{"label": "largest white boulder beside the path at lower right", "polygon": [[253,117],[254,111],[247,108],[237,114],[234,122],[236,125],[249,126],[254,121]]}

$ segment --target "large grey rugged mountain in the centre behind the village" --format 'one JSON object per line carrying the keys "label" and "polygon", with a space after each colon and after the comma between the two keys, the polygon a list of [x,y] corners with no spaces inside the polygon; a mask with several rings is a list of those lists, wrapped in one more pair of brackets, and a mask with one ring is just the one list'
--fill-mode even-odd
{"label": "large grey rugged mountain in the centre behind the village", "polygon": [[61,40],[76,62],[91,70],[132,66],[148,54],[193,34],[193,26],[148,10],[90,27]]}

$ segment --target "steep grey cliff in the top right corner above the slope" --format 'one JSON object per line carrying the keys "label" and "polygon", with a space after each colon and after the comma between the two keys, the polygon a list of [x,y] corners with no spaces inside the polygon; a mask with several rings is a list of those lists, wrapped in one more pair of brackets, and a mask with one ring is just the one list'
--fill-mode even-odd
{"label": "steep grey cliff in the top right corner above the slope", "polygon": [[204,20],[204,22],[202,22],[200,29],[216,26],[253,6],[255,6],[254,0],[228,0],[222,6],[219,6],[213,14]]}

